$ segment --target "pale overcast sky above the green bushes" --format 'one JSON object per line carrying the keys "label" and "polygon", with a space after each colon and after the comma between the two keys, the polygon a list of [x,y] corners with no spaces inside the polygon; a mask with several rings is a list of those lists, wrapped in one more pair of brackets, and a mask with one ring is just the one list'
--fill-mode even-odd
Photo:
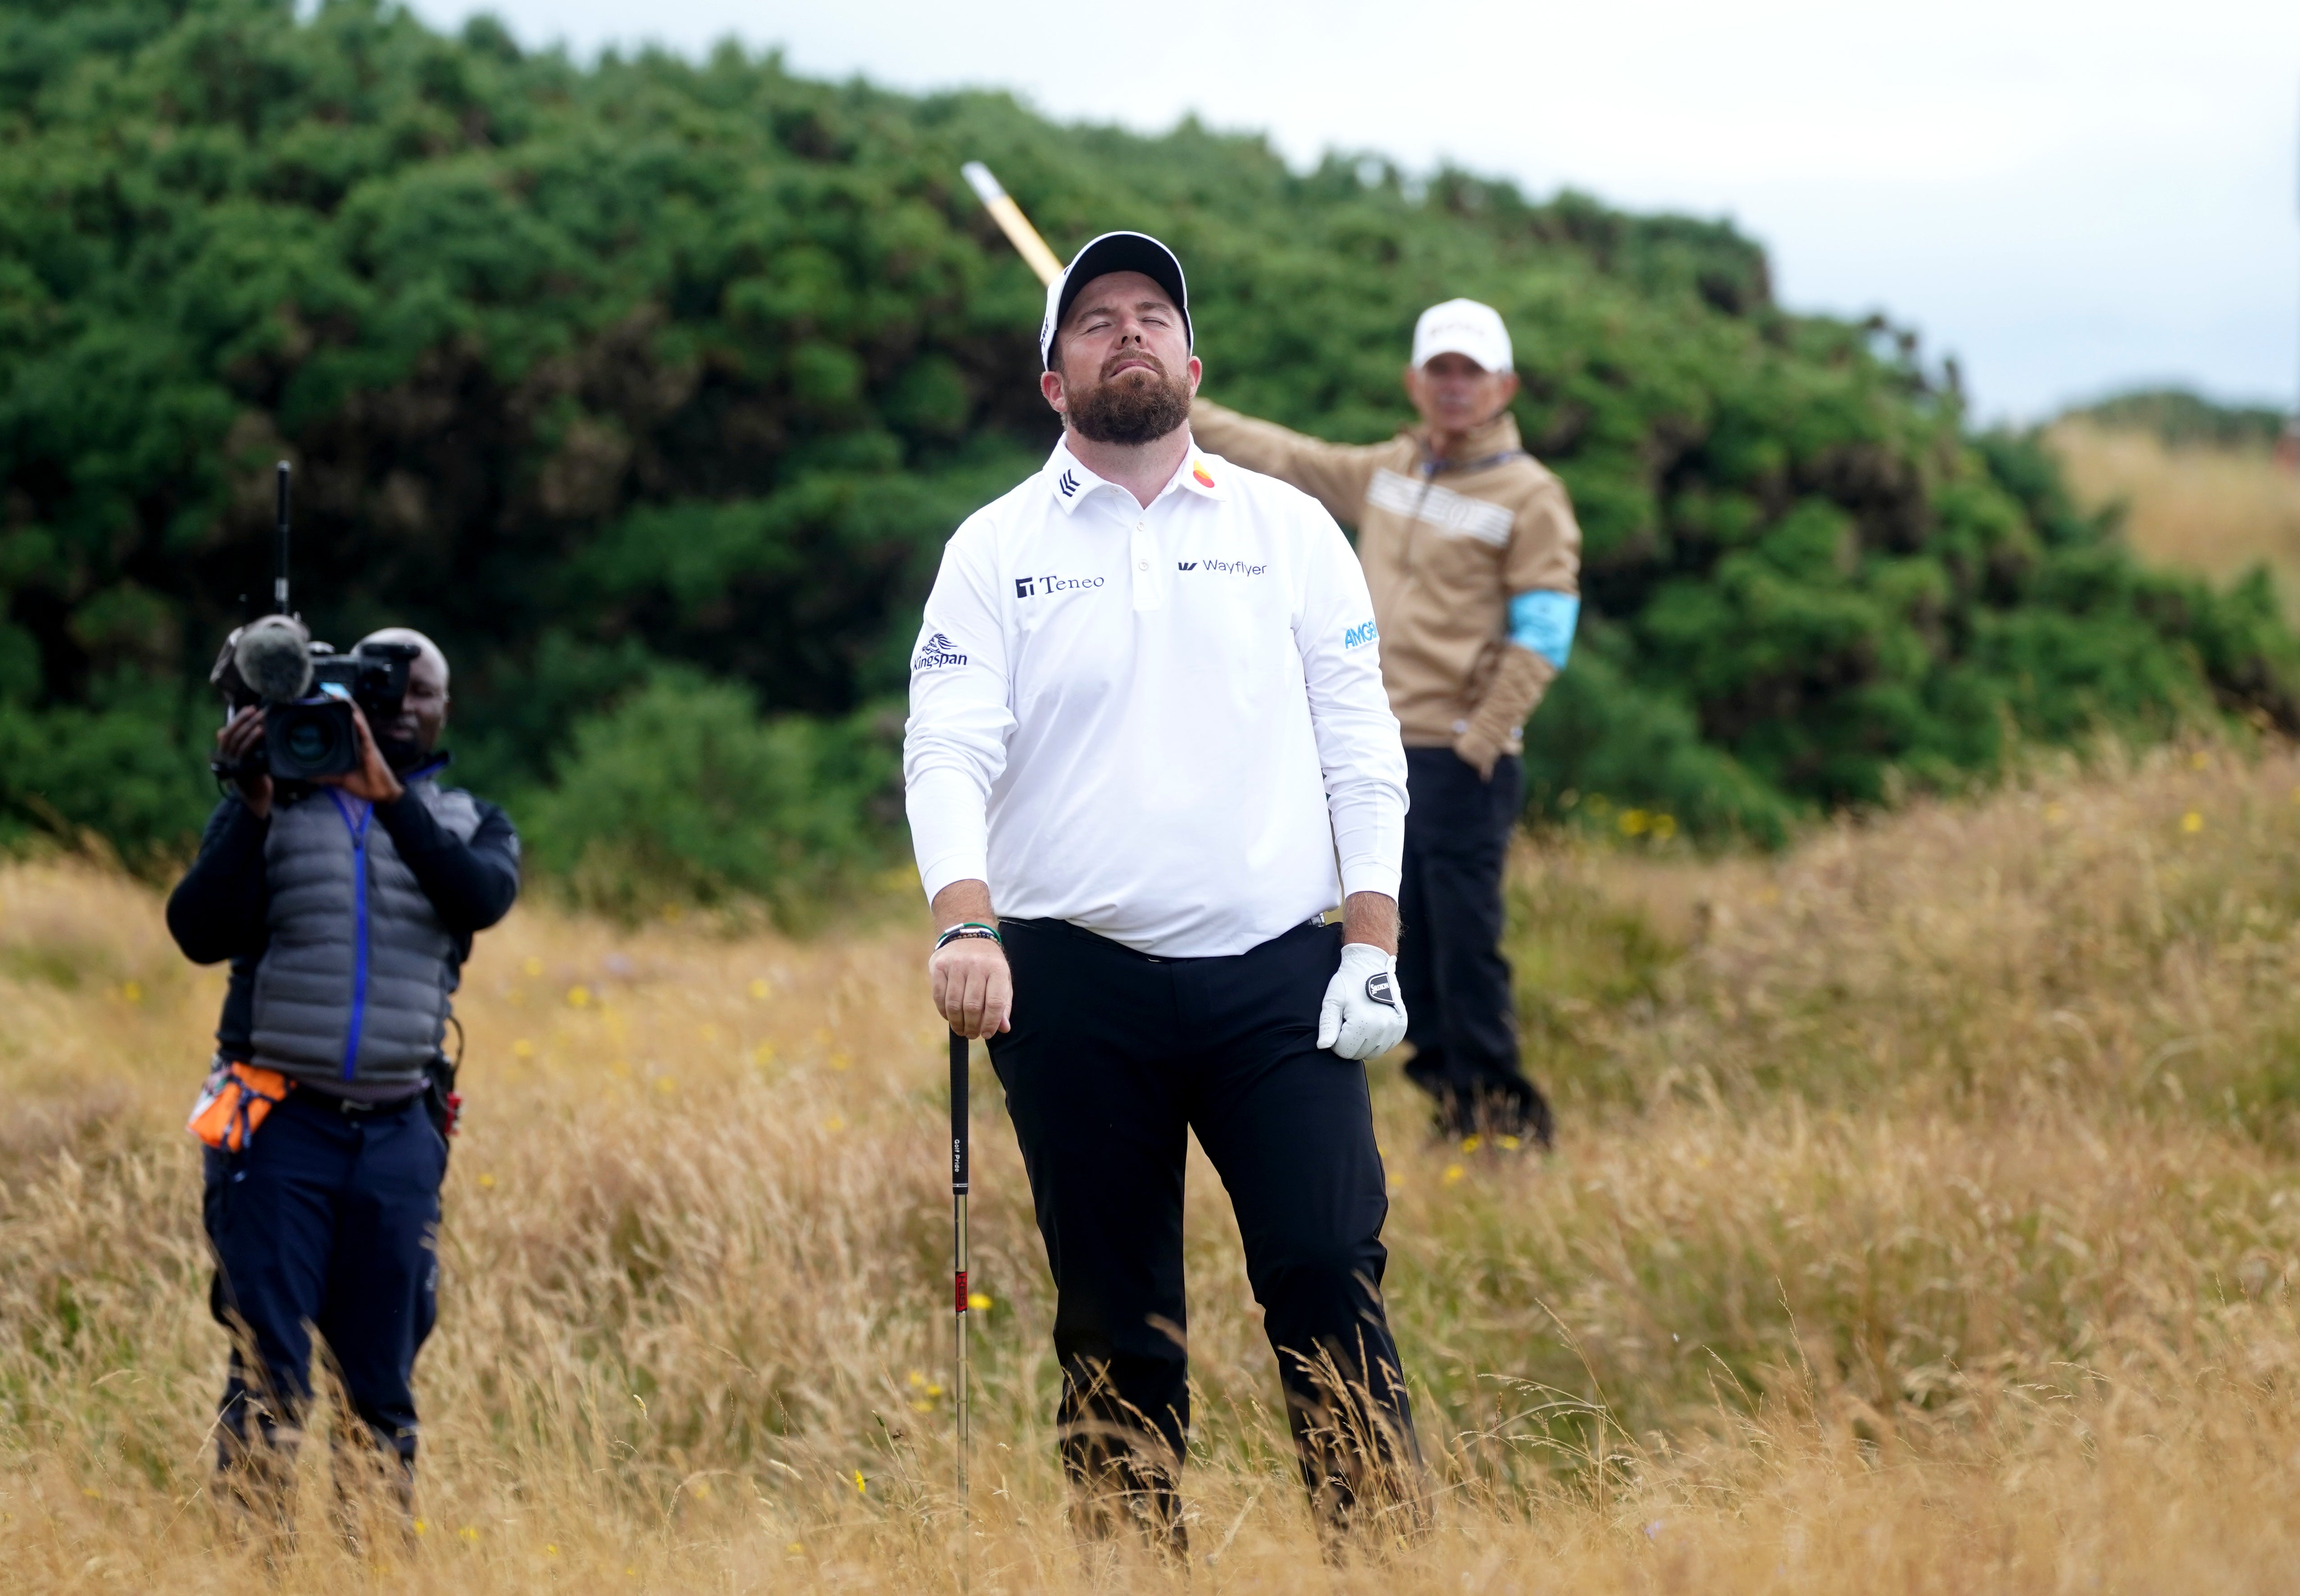
{"label": "pale overcast sky above the green bushes", "polygon": [[[2300,0],[416,0],[529,46],[729,34],[796,71],[1014,90],[1730,216],[1796,308],[1886,310],[1983,416],[2300,389]],[[1113,216],[1113,225],[1125,218]]]}

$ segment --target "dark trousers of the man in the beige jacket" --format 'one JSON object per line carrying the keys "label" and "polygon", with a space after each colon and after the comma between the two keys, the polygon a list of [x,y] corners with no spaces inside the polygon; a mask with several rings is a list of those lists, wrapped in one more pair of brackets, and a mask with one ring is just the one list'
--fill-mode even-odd
{"label": "dark trousers of the man in the beige jacket", "polygon": [[1451,747],[1408,747],[1405,872],[1398,885],[1398,996],[1414,1056],[1408,1079],[1438,1099],[1451,1136],[1555,1131],[1550,1104],[1518,1067],[1516,1005],[1502,957],[1502,872],[1523,803],[1504,754],[1493,777]]}

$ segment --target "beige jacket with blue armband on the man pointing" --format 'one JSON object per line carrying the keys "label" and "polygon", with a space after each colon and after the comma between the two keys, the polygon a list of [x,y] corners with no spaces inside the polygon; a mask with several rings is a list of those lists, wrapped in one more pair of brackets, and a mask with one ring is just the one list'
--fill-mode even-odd
{"label": "beige jacket with blue armband on the man pointing", "polygon": [[1518,752],[1557,667],[1509,639],[1509,600],[1580,591],[1580,527],[1564,483],[1525,453],[1506,412],[1444,462],[1417,432],[1325,444],[1203,398],[1189,430],[1357,527],[1382,683],[1408,747],[1456,747],[1472,764],[1481,747]]}

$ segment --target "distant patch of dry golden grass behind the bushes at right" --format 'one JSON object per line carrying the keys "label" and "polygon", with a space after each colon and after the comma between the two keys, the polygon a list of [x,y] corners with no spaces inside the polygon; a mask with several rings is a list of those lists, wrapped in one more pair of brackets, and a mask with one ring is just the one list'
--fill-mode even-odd
{"label": "distant patch of dry golden grass behind the bushes at right", "polygon": [[2047,432],[2079,504],[2125,504],[2125,540],[2157,566],[2231,582],[2266,563],[2300,621],[2300,474],[2266,448],[2171,448],[2153,432],[2061,421]]}

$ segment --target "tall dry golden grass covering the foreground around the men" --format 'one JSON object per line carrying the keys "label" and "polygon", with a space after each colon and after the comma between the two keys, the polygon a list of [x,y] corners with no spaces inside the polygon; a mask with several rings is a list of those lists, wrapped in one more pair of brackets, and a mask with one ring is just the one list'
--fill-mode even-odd
{"label": "tall dry golden grass covering the foreground around the men", "polygon": [[[1527,849],[1564,1150],[1375,1111],[1438,1532],[1322,1568],[1194,1168],[1191,1589],[2282,1591],[2300,1568],[2300,757],[2183,752],[1780,860]],[[288,1589],[957,1589],[918,927],[522,908],[419,1366],[423,1536],[308,1449]],[[179,1120],[218,996],[156,901],[0,872],[0,1587],[267,1580],[205,1499]],[[977,1069],[973,1585],[1182,1589],[1063,1525],[1049,1290]]]}

